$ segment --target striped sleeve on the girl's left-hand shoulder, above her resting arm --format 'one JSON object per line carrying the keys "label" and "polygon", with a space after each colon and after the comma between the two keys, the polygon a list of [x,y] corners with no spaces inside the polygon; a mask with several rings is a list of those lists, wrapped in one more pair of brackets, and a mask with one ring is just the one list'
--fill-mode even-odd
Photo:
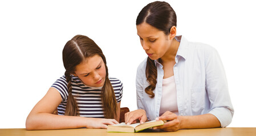
{"label": "striped sleeve on the girl's left-hand shoulder, above her resting arm", "polygon": [[59,91],[60,96],[62,96],[62,102],[67,101],[67,97],[68,97],[67,80],[64,76],[56,80],[51,87]]}

